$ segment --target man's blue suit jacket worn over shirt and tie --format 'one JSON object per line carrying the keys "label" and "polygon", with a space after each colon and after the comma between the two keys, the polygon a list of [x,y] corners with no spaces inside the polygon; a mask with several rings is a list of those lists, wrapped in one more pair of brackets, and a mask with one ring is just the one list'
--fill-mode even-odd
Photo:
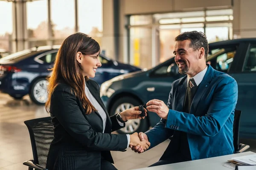
{"label": "man's blue suit jacket worn over shirt and tie", "polygon": [[146,132],[151,147],[172,136],[160,160],[178,152],[175,131],[187,133],[192,160],[234,153],[233,121],[238,97],[236,80],[208,65],[204,79],[192,101],[190,113],[184,113],[187,76],[172,83],[168,100],[168,118]]}

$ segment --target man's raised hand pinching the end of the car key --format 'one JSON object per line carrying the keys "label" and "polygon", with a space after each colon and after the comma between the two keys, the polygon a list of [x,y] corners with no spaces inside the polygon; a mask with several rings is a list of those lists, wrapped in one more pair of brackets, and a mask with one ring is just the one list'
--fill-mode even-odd
{"label": "man's raised hand pinching the end of the car key", "polygon": [[160,118],[167,119],[169,108],[162,100],[153,99],[147,102],[148,111],[157,113]]}

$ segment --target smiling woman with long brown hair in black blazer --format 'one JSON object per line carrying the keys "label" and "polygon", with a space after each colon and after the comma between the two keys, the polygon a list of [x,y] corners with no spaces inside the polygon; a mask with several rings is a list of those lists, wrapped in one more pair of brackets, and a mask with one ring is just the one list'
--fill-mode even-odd
{"label": "smiling woman with long brown hair in black blazer", "polygon": [[111,134],[137,119],[134,107],[109,117],[100,99],[99,85],[89,79],[101,66],[98,42],[76,33],[64,40],[49,77],[46,109],[54,128],[47,168],[49,170],[116,170],[110,150],[123,151],[139,144],[146,150],[147,141],[138,134]]}

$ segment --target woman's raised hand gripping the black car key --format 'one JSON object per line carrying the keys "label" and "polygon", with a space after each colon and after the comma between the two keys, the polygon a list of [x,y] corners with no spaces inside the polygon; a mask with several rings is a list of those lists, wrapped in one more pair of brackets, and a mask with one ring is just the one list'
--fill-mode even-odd
{"label": "woman's raised hand gripping the black car key", "polygon": [[[145,116],[147,116],[147,110],[144,108],[145,111]],[[141,111],[139,111],[139,107],[133,107],[129,108],[125,111],[122,111],[120,115],[122,116],[123,121],[129,120],[129,119],[144,119],[145,116],[141,117],[140,116]]]}

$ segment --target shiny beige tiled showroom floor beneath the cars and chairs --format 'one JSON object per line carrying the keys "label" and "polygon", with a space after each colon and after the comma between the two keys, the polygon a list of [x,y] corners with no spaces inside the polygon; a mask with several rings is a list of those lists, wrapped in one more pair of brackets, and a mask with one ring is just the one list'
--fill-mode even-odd
{"label": "shiny beige tiled showroom floor beneath the cars and chairs", "polygon": [[[32,104],[28,96],[24,100],[13,100],[6,94],[0,94],[0,170],[27,170],[22,163],[32,159],[29,132],[24,125],[25,120],[46,117],[44,106]],[[241,140],[249,144],[250,151],[256,152],[256,142]],[[111,152],[118,170],[131,170],[148,167],[159,160],[169,141],[145,153]]]}

